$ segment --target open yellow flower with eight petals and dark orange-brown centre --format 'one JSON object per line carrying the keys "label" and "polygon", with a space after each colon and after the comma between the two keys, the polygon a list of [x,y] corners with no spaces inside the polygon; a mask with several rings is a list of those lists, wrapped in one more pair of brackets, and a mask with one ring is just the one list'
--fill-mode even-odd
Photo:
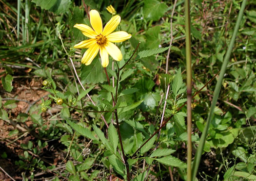
{"label": "open yellow flower with eight petals and dark orange-brown centre", "polygon": [[[90,11],[90,23],[93,29],[85,24],[76,24],[74,27],[79,29],[85,36],[90,39],[81,41],[76,44],[74,48],[87,49],[83,54],[81,63],[86,66],[90,65],[93,59],[96,57],[99,51],[101,58],[101,65],[103,67],[108,66],[110,55],[114,60],[122,60],[122,53],[120,49],[114,44],[123,42],[132,37],[124,31],[112,33],[121,21],[121,17],[113,16],[102,29],[102,21],[98,11]],[[113,42],[113,43],[112,43]]]}

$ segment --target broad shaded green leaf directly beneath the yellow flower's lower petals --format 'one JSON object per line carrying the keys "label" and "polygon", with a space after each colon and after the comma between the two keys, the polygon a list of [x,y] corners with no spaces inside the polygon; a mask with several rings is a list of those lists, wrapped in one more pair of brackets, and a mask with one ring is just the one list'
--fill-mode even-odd
{"label": "broad shaded green leaf directly beneath the yellow flower's lower petals", "polygon": [[82,65],[81,72],[82,83],[103,83],[107,80],[104,68],[98,58],[95,58],[89,66]]}

